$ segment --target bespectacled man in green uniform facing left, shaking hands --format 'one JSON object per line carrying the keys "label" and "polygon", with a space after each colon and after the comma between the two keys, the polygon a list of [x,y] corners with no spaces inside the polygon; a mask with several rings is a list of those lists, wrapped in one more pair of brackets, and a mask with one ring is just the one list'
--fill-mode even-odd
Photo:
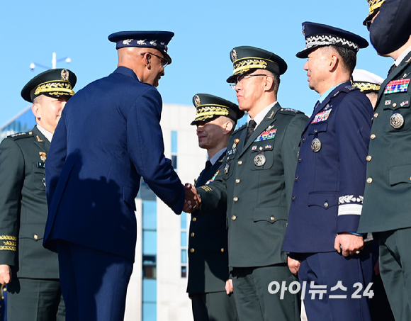
{"label": "bespectacled man in green uniform facing left, shaking hands", "polygon": [[307,117],[277,101],[279,77],[287,69],[281,57],[249,46],[235,47],[230,57],[234,70],[227,82],[249,122],[230,137],[214,181],[197,188],[201,208],[193,218],[227,205],[228,258],[240,320],[300,320],[298,295],[270,293],[269,285],[295,281],[281,247]]}

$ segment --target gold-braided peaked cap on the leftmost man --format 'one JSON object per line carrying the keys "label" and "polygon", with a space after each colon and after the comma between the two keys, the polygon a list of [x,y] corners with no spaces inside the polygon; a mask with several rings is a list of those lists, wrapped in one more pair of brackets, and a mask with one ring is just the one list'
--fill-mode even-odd
{"label": "gold-braided peaked cap on the leftmost man", "polygon": [[21,96],[30,103],[33,103],[33,99],[40,95],[73,96],[76,82],[76,75],[69,69],[50,69],[28,81],[21,90]]}

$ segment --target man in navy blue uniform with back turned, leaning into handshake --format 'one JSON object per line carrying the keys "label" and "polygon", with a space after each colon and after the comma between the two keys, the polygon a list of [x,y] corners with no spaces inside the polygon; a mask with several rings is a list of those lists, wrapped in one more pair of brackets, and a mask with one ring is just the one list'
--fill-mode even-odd
{"label": "man in navy blue uniform with back turned, leaning into handshake", "polygon": [[164,157],[156,88],[173,35],[110,35],[118,68],[81,89],[57,126],[45,167],[44,245],[58,251],[67,321],[123,320],[141,177],[171,210],[183,209],[184,186]]}

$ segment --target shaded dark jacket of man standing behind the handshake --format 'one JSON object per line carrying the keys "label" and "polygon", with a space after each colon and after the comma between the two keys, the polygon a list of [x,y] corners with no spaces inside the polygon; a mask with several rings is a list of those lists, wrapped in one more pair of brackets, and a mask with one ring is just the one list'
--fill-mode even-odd
{"label": "shaded dark jacket of man standing behind the handshake", "polygon": [[[223,153],[217,162],[202,171],[196,186],[210,184],[223,164]],[[188,285],[187,292],[225,292],[228,274],[227,205],[207,215],[192,215],[188,237]]]}

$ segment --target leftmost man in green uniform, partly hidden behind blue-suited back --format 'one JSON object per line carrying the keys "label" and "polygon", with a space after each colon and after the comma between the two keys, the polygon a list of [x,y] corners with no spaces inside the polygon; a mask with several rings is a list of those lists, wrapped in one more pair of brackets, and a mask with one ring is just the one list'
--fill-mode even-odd
{"label": "leftmost man in green uniform, partly hidden behind blue-suited back", "polygon": [[[51,69],[21,91],[37,125],[0,144],[0,282],[8,283],[9,321],[63,321],[57,254],[42,246],[47,219],[45,160],[76,75]],[[54,138],[53,138],[54,140]]]}

